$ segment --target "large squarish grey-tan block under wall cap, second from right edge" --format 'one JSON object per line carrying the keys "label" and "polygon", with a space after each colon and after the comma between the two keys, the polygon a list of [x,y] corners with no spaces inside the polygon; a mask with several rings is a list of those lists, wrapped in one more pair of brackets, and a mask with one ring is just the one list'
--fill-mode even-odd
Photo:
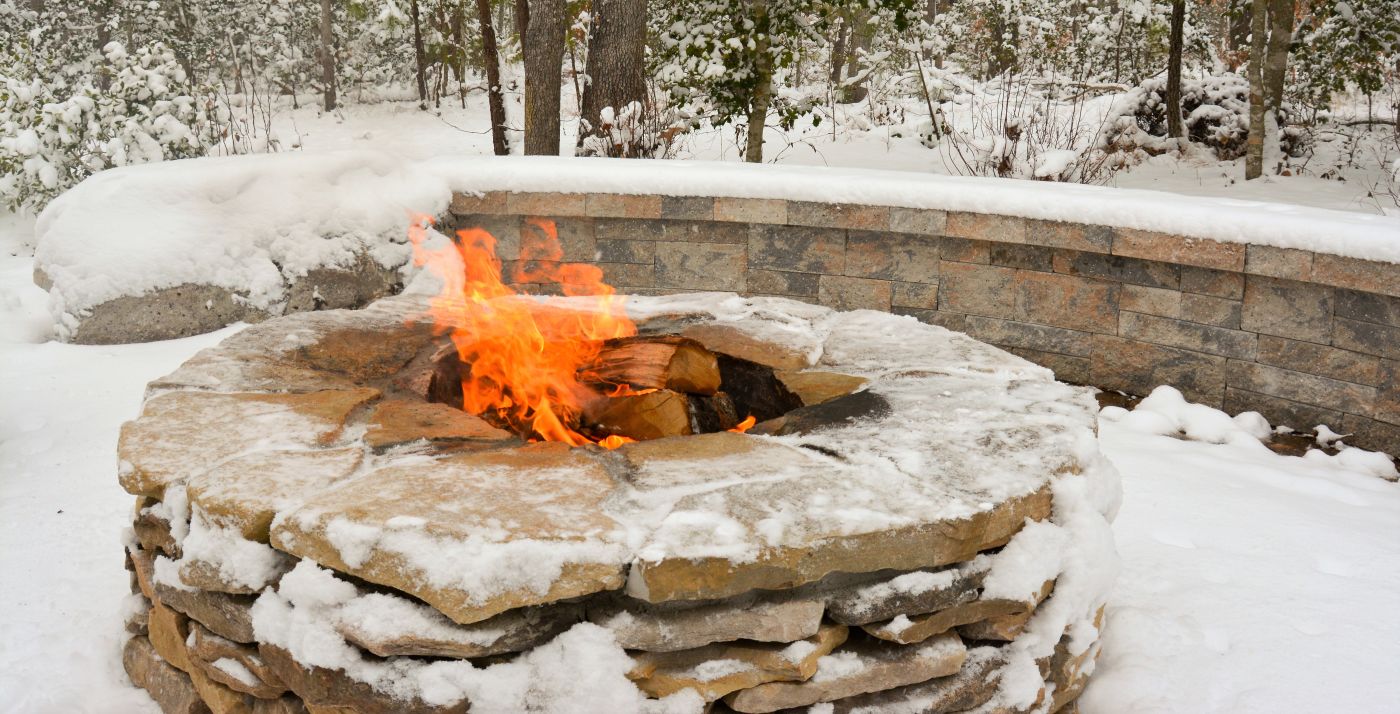
{"label": "large squarish grey-tan block under wall cap, second from right edge", "polygon": [[1249,276],[1240,326],[1249,332],[1327,344],[1331,340],[1333,288]]}

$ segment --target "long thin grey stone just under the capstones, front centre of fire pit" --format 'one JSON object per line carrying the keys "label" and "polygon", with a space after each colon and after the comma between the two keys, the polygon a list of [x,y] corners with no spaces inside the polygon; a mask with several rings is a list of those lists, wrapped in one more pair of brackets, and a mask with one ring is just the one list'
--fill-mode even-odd
{"label": "long thin grey stone just under the capstones, front centre of fire pit", "polygon": [[805,640],[818,633],[822,609],[816,599],[753,599],[685,609],[648,609],[629,602],[589,608],[588,620],[612,631],[627,650],[675,652],[734,640]]}

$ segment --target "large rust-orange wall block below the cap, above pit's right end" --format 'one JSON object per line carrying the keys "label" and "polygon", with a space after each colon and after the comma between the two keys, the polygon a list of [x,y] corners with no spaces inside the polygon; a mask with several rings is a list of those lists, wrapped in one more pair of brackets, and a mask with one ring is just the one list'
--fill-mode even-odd
{"label": "large rust-orange wall block below the cap, above pit's right end", "polygon": [[1114,335],[1119,286],[1103,280],[1018,270],[1015,316],[1026,322]]}

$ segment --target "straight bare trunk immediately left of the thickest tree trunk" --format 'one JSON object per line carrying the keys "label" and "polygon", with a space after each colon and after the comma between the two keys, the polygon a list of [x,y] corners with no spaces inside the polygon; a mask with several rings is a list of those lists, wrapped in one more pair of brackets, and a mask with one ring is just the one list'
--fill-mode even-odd
{"label": "straight bare trunk immediately left of the thickest tree trunk", "polygon": [[525,29],[525,153],[559,155],[564,0],[535,0]]}

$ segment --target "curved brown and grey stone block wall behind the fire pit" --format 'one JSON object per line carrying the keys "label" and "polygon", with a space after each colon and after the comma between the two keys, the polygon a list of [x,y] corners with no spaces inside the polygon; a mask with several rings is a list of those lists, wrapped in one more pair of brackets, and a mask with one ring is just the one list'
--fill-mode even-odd
{"label": "curved brown and grey stone block wall behind the fire pit", "polygon": [[[897,206],[456,195],[455,227],[559,227],[622,293],[735,291],[911,315],[1068,382],[1170,384],[1231,413],[1400,454],[1400,265],[1107,225]],[[526,290],[532,286],[524,286]]]}

